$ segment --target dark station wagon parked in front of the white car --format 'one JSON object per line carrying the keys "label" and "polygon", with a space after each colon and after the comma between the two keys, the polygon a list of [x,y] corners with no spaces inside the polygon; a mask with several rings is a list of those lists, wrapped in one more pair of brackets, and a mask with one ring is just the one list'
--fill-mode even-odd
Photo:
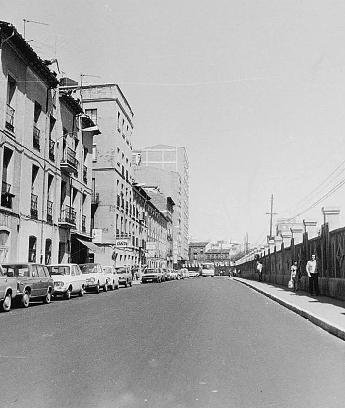
{"label": "dark station wagon parked in front of the white car", "polygon": [[4,274],[17,278],[16,300],[27,308],[30,300],[50,303],[54,281],[48,268],[39,263],[4,263]]}

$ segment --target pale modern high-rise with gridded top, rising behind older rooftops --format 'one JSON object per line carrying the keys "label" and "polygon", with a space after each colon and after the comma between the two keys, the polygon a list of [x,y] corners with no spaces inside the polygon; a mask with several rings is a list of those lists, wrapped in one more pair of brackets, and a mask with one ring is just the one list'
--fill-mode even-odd
{"label": "pale modern high-rise with gridded top, rising behind older rooftops", "polygon": [[158,186],[175,202],[173,216],[174,265],[188,260],[189,161],[185,147],[156,145],[133,151],[135,180]]}

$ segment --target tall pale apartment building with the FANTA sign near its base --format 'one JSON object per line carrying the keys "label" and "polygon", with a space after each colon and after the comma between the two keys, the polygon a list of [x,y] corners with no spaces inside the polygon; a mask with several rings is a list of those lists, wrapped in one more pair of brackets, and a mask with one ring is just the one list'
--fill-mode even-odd
{"label": "tall pale apartment building with the FANTA sign near its base", "polygon": [[131,163],[134,113],[117,84],[78,89],[85,113],[102,131],[92,146],[91,224],[99,247],[94,260],[132,266],[138,262],[134,248],[139,244]]}

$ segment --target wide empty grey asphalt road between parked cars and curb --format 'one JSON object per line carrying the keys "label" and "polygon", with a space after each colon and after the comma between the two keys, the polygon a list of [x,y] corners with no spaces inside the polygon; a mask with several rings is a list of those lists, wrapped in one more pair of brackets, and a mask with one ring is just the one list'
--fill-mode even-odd
{"label": "wide empty grey asphalt road between parked cars and curb", "polygon": [[0,407],[344,408],[345,343],[235,281],[0,315]]}

